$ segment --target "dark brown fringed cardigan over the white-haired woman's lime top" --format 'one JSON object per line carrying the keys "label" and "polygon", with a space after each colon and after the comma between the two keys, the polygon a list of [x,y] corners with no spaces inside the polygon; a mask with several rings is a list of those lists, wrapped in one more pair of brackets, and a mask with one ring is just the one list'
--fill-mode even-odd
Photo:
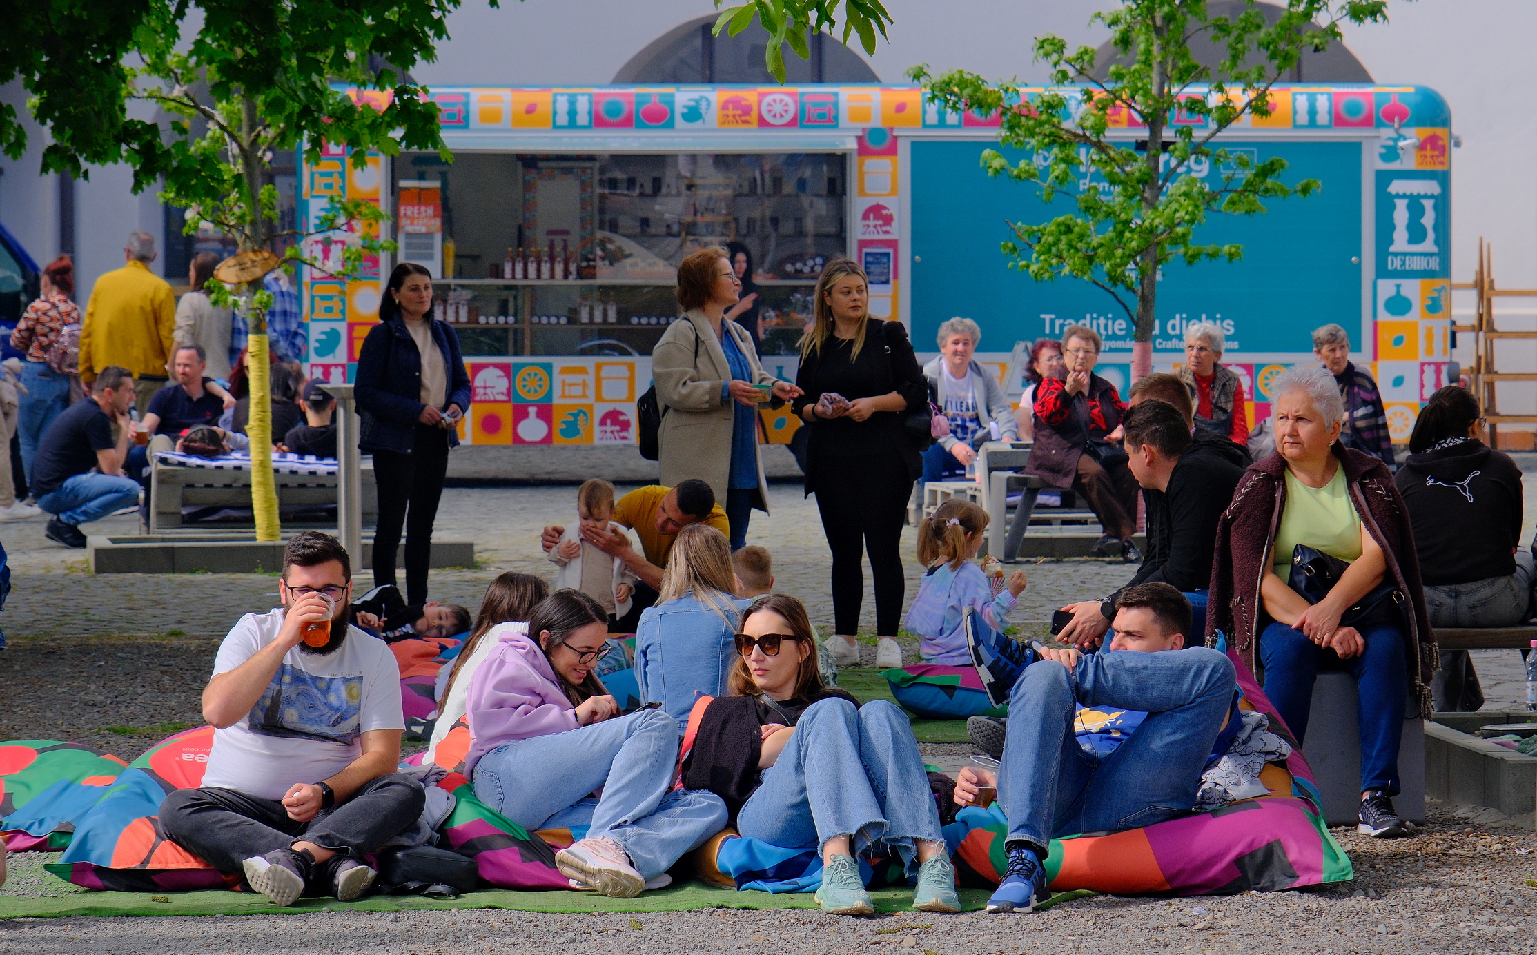
{"label": "dark brown fringed cardigan over the white-haired woman's lime top", "polygon": [[[1409,689],[1419,700],[1420,714],[1431,712],[1431,672],[1440,664],[1436,634],[1425,612],[1425,591],[1420,584],[1420,561],[1414,554],[1409,514],[1399,489],[1380,460],[1336,443],[1334,457],[1345,469],[1349,500],[1366,532],[1382,547],[1388,574],[1409,598],[1405,655],[1408,657]],[[1217,523],[1217,552],[1211,561],[1211,595],[1207,604],[1207,646],[1216,644],[1216,632],[1228,641],[1251,672],[1259,644],[1257,626],[1265,612],[1260,598],[1260,577],[1271,564],[1276,529],[1286,506],[1286,461],[1273,454],[1250,464],[1233,494],[1233,503]]]}

